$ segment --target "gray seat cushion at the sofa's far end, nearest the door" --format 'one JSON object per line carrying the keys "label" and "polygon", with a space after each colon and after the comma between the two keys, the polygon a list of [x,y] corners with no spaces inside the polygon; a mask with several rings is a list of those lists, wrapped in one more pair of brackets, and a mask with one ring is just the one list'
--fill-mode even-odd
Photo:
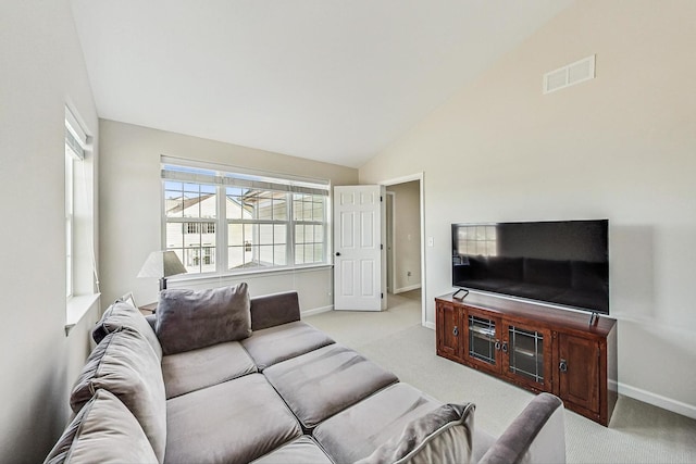
{"label": "gray seat cushion at the sofa's far end, nearest the door", "polygon": [[251,337],[241,341],[260,372],[332,343],[334,340],[326,334],[299,321],[256,330]]}

